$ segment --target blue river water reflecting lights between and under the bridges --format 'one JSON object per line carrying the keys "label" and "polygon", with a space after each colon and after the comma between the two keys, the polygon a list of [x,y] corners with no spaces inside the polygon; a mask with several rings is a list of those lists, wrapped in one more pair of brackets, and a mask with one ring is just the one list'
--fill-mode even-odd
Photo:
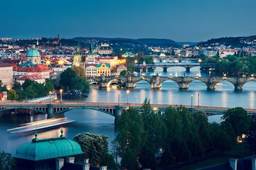
{"label": "blue river water reflecting lights between and under the bridges", "polygon": [[[167,73],[161,73],[161,68],[156,69],[156,73],[161,76],[166,75],[182,75],[185,71],[182,67],[172,67],[168,69]],[[152,74],[152,73],[148,73]],[[198,76],[200,69],[194,67],[187,76]],[[207,75],[205,75],[207,76]],[[163,87],[159,90],[151,90],[150,85],[146,81],[137,83],[136,88],[130,90],[129,96],[125,89],[116,89],[111,87],[108,89],[99,89],[92,87],[88,97],[70,97],[63,95],[63,101],[91,101],[91,102],[118,102],[118,93],[120,92],[120,102],[127,103],[142,103],[145,97],[150,99],[151,103],[159,104],[191,104],[191,95],[193,95],[193,105],[199,104],[201,106],[222,106],[222,107],[244,107],[256,108],[256,82],[250,81],[243,87],[243,92],[234,92],[234,86],[228,81],[222,81],[216,87],[216,91],[209,92],[206,90],[206,85],[201,81],[193,81],[189,84],[188,90],[179,90],[177,83],[173,81],[165,81]],[[109,148],[111,148],[111,141],[115,139],[117,131],[115,129],[114,118],[92,110],[72,110],[59,115],[59,117],[68,117],[76,120],[73,124],[65,125],[63,127],[64,134],[67,138],[72,139],[76,134],[81,132],[92,132],[94,134],[105,134],[109,136]],[[220,122],[221,116],[209,117],[209,122]],[[6,131],[19,124],[33,122],[36,120],[43,120],[47,118],[46,115],[37,114],[31,116],[15,116],[0,118],[0,150],[10,152],[15,155],[18,146],[30,142],[34,138],[33,133],[28,134],[10,134]],[[43,132],[38,132],[38,138],[51,138],[60,136],[60,127],[50,129]]]}

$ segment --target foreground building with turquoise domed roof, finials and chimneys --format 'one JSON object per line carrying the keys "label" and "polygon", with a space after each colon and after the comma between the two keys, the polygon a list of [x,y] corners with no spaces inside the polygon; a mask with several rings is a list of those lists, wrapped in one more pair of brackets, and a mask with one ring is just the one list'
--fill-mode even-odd
{"label": "foreground building with turquoise domed roof, finials and chimneys", "polygon": [[[75,161],[76,157],[76,161]],[[84,161],[84,152],[81,146],[70,139],[66,139],[61,129],[61,135],[57,138],[38,139],[37,133],[31,143],[19,146],[15,159],[19,169],[64,169],[65,166],[72,169],[88,169],[90,164],[79,166],[74,164],[80,160]]]}

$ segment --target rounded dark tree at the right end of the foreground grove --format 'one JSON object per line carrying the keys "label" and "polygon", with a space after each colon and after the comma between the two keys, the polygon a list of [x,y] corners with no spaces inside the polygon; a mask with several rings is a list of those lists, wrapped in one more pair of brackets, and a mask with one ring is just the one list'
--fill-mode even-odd
{"label": "rounded dark tree at the right end of the foreground grove", "polygon": [[222,124],[230,123],[236,136],[248,133],[250,125],[253,122],[252,118],[248,117],[247,111],[243,108],[232,108],[225,111],[222,119]]}

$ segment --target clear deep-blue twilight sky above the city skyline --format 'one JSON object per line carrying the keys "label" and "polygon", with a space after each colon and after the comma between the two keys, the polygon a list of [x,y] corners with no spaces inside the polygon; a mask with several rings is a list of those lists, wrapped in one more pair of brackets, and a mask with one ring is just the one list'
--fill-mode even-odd
{"label": "clear deep-blue twilight sky above the city skyline", "polygon": [[0,37],[168,38],[256,35],[256,0],[1,1]]}

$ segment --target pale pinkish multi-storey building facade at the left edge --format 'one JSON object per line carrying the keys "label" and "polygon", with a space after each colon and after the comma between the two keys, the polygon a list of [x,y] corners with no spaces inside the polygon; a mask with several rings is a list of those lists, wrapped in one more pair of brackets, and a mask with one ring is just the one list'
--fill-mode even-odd
{"label": "pale pinkish multi-storey building facade at the left edge", "polygon": [[0,80],[3,86],[12,87],[13,84],[13,66],[9,63],[0,62]]}

